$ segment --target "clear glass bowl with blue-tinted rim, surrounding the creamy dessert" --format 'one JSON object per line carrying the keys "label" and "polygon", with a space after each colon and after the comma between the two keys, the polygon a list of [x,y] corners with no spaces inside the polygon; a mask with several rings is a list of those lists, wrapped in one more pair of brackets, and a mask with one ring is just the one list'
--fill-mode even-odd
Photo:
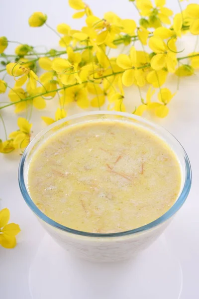
{"label": "clear glass bowl with blue-tinted rim, surrounding the creamy dessert", "polygon": [[[161,217],[142,227],[109,234],[88,233],[65,227],[42,213],[32,201],[27,186],[27,173],[29,162],[35,150],[52,134],[79,123],[92,121],[122,121],[145,128],[164,140],[176,153],[182,170],[181,191],[175,204]],[[19,187],[22,196],[38,217],[46,231],[62,247],[78,257],[98,262],[113,262],[128,259],[147,248],[163,232],[173,216],[185,202],[191,188],[191,166],[188,156],[168,131],[141,117],[115,111],[96,111],[73,115],[62,119],[42,130],[25,149],[19,164]]]}

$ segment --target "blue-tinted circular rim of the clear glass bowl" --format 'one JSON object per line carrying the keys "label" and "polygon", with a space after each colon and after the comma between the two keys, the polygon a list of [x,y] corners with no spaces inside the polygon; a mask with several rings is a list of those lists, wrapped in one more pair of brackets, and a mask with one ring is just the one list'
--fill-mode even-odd
{"label": "blue-tinted circular rim of the clear glass bowl", "polygon": [[[26,189],[25,186],[25,180],[24,180],[24,166],[25,166],[25,161],[26,161],[26,157],[29,153],[29,151],[32,149],[32,145],[34,145],[35,140],[39,140],[42,136],[44,136],[49,130],[51,130],[52,128],[59,126],[65,122],[68,122],[69,120],[73,120],[73,119],[78,119],[81,117],[86,117],[86,116],[94,116],[94,115],[113,115],[113,116],[123,116],[123,117],[127,117],[130,119],[134,119],[137,121],[140,121],[142,124],[148,124],[156,129],[161,130],[162,132],[165,133],[169,133],[169,136],[172,137],[175,141],[177,141],[178,146],[180,146],[181,150],[182,150],[182,154],[184,156],[184,163],[185,163],[185,183],[183,185],[183,188],[181,190],[181,193],[178,196],[178,199],[176,200],[176,202],[174,203],[174,205],[166,212],[164,213],[162,216],[160,216],[159,218],[157,218],[156,220],[140,226],[138,228],[132,229],[132,230],[128,230],[128,231],[123,231],[123,232],[117,232],[117,233],[90,233],[90,232],[84,232],[84,231],[79,231],[76,229],[72,229],[69,228],[67,226],[64,226],[62,224],[59,224],[58,222],[52,220],[51,218],[49,218],[48,216],[46,216],[42,211],[40,211],[38,209],[38,207],[35,205],[35,203],[32,201],[30,195],[28,194],[28,190]],[[169,218],[171,218],[184,204],[184,202],[187,199],[187,196],[190,192],[190,188],[191,188],[191,184],[192,184],[192,171],[191,171],[191,165],[190,165],[190,161],[188,158],[188,155],[185,151],[185,149],[182,147],[182,145],[180,144],[180,142],[166,129],[164,129],[163,127],[148,121],[140,116],[136,116],[130,113],[126,113],[126,112],[116,112],[116,111],[91,111],[91,112],[84,112],[84,113],[80,113],[80,114],[75,114],[69,117],[66,117],[64,119],[61,119],[55,123],[53,123],[52,125],[46,127],[45,129],[43,129],[42,131],[40,131],[40,133],[38,133],[30,142],[30,144],[27,146],[27,148],[24,150],[20,163],[19,163],[19,168],[18,168],[18,182],[19,182],[19,188],[21,191],[21,194],[26,202],[26,204],[29,206],[29,208],[33,211],[34,214],[36,214],[41,220],[43,220],[44,222],[46,222],[47,224],[49,224],[50,226],[53,226],[57,229],[60,229],[62,231],[71,233],[71,234],[75,234],[75,235],[81,235],[81,236],[86,236],[86,237],[120,237],[120,236],[126,236],[126,235],[131,235],[131,234],[136,234],[136,233],[140,233],[140,232],[144,232],[147,231],[149,229],[155,228],[158,225],[162,224],[163,222],[165,222],[166,220],[168,220]]]}

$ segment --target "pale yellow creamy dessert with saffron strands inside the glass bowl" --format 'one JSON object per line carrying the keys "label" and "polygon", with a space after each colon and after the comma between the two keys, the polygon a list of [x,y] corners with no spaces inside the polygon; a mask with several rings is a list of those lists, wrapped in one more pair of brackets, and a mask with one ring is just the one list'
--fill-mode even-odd
{"label": "pale yellow creamy dessert with saffron strands inside the glass bowl", "polygon": [[148,224],[178,198],[176,154],[149,130],[122,121],[65,127],[35,151],[28,190],[49,218],[72,229],[115,233]]}

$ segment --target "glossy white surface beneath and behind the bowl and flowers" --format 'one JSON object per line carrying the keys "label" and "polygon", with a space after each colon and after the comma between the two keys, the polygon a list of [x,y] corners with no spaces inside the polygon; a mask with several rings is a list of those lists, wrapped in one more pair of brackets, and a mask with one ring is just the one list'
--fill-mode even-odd
{"label": "glossy white surface beneath and behind the bowl and flowers", "polygon": [[[167,6],[174,9],[175,12],[179,11],[177,0],[167,2]],[[193,2],[199,3],[198,0]],[[87,3],[99,16],[102,16],[105,11],[112,10],[123,18],[138,17],[132,3],[128,0],[87,0]],[[184,2],[183,5],[185,5]],[[29,28],[27,19],[33,11],[47,13],[48,23],[52,27],[61,22],[66,22],[71,26],[76,24],[76,28],[83,25],[83,20],[72,19],[71,15],[74,11],[68,6],[66,0],[28,2],[6,0],[0,2],[0,35],[7,36],[9,40],[18,40],[32,45],[45,44],[49,48],[56,47],[58,39],[49,29],[46,27]],[[189,53],[194,49],[195,40],[196,37],[188,36],[186,42],[179,43],[179,47],[186,46],[186,53],[188,48]],[[14,46],[14,44],[9,46],[6,52],[11,53]],[[181,55],[184,56],[184,53]],[[175,91],[176,85],[176,79],[174,80],[174,77],[171,76],[167,86]],[[192,164],[193,186],[186,203],[164,236],[138,257],[136,262],[108,266],[91,265],[78,260],[74,261],[67,253],[64,254],[45,235],[39,222],[22,199],[17,181],[20,157],[15,154],[0,155],[0,209],[8,207],[11,212],[10,221],[19,223],[21,227],[21,233],[17,238],[18,245],[15,249],[5,250],[0,247],[0,298],[166,299],[163,297],[165,294],[168,294],[168,299],[197,299],[199,297],[198,86],[198,74],[191,78],[183,78],[180,91],[169,105],[171,110],[169,116],[164,120],[155,120],[174,134],[186,149]],[[125,101],[128,112],[134,110],[132,98],[137,96],[135,87],[127,90]],[[6,97],[2,97],[2,101],[6,100]],[[50,107],[51,104],[39,115],[49,116]],[[80,110],[72,109],[70,114],[74,111]],[[53,116],[54,112],[51,112],[51,115]],[[10,116],[12,116],[12,122],[8,121]],[[13,107],[3,111],[3,117],[8,132],[15,130],[17,118],[13,115]],[[34,124],[33,127],[35,135],[44,125],[39,117],[36,119],[35,112],[33,112],[33,119],[37,120],[37,124]],[[0,126],[0,136],[2,135],[2,126]],[[168,250],[164,251],[163,244],[167,244]],[[61,257],[63,257],[63,266]],[[151,260],[154,260],[154,266],[152,266]],[[162,267],[160,267],[161,265]],[[182,276],[180,276],[181,268]],[[52,275],[50,275],[51,272]],[[55,275],[56,273],[57,275]],[[135,278],[137,273],[138,276]],[[59,279],[60,276],[61,279]],[[157,284],[154,283],[156,281]],[[132,285],[130,285],[131,283]],[[65,293],[62,292],[63,285]],[[150,290],[147,296],[142,290],[145,285],[147,285],[146,289]],[[57,294],[60,297],[56,297],[53,293],[56,291],[56,287],[59,288]],[[39,293],[40,295],[38,295],[39,290],[42,292]],[[54,296],[49,297],[49,294],[54,294]],[[63,297],[64,295],[66,296]]]}

